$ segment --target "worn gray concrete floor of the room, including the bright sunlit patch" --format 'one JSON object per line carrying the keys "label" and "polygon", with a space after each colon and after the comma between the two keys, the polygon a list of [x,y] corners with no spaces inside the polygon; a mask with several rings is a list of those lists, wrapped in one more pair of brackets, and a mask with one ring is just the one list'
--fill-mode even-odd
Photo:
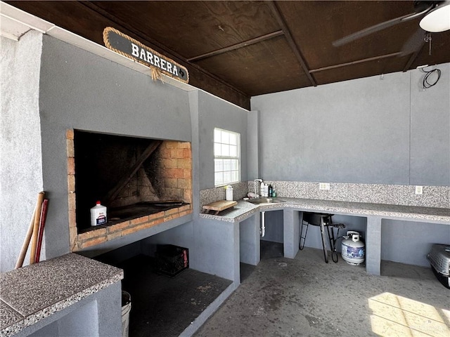
{"label": "worn gray concrete floor of the room, including the bright sunlit patch", "polygon": [[262,242],[259,265],[194,336],[450,336],[450,291],[430,268],[383,262],[374,276],[319,249],[282,251]]}

